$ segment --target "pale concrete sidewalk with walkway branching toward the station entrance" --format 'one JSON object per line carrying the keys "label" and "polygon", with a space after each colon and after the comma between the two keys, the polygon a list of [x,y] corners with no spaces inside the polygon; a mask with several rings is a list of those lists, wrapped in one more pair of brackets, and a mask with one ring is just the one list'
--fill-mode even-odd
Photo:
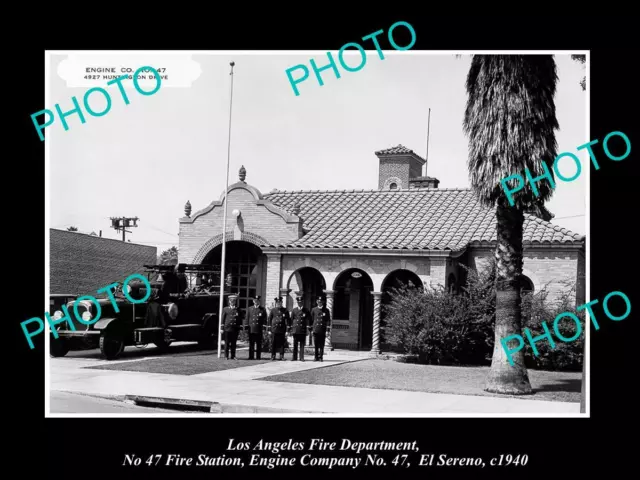
{"label": "pale concrete sidewalk with walkway branching toward the station entrance", "polygon": [[[246,411],[257,413],[286,411],[297,412],[300,415],[305,413],[382,415],[523,413],[548,416],[577,416],[580,413],[578,403],[259,380],[271,375],[358,361],[367,356],[364,352],[336,350],[326,352],[323,363],[276,361],[189,376],[87,369],[84,367],[104,365],[106,361],[70,357],[52,358],[50,359],[50,388],[51,391],[74,392],[106,398],[145,396],[216,402],[227,406],[248,407],[250,410]],[[164,357],[150,356],[145,357],[144,361],[153,361],[154,358]],[[140,360],[143,359],[123,361]],[[242,363],[241,360],[238,362]]]}

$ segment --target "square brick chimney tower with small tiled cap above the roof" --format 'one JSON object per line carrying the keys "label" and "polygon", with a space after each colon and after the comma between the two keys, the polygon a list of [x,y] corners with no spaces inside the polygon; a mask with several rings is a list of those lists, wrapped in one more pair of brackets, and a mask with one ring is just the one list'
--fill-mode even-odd
{"label": "square brick chimney tower with small tiled cap above the roof", "polygon": [[427,163],[413,150],[403,145],[375,152],[379,159],[378,188],[400,190],[411,188],[411,179],[421,178]]}

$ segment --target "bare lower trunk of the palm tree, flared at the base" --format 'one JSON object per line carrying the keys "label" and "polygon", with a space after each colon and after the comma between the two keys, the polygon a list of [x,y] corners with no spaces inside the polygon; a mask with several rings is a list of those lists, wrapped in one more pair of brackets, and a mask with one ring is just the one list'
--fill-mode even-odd
{"label": "bare lower trunk of the palm tree, flared at the base", "polygon": [[[522,275],[522,229],[524,215],[517,207],[501,205],[496,208],[496,326],[491,370],[485,390],[508,395],[532,393],[524,365],[524,348],[512,354],[509,363],[501,339],[510,335],[522,336],[520,276]],[[525,339],[525,343],[526,343]],[[512,342],[509,342],[513,345]]]}

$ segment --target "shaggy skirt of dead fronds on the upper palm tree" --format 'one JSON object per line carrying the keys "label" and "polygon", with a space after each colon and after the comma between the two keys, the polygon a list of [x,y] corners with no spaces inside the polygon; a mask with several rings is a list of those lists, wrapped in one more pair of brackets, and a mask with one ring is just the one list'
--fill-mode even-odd
{"label": "shaggy skirt of dead fronds on the upper palm tree", "polygon": [[525,168],[535,178],[544,173],[544,162],[552,172],[557,155],[554,132],[559,128],[557,81],[551,55],[473,56],[463,128],[469,138],[471,185],[482,204],[507,205],[500,181],[515,174],[525,183],[514,195],[518,208],[540,208],[551,197],[547,180],[536,183],[539,195],[534,195]]}

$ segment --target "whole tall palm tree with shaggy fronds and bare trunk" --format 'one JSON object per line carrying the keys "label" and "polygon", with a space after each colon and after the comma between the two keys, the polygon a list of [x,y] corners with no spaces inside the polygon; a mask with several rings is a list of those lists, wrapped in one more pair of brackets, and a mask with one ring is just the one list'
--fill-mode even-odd
{"label": "whole tall palm tree with shaggy fronds and bare trunk", "polygon": [[[503,394],[532,393],[524,349],[509,363],[500,340],[520,334],[522,229],[524,213],[541,214],[553,189],[546,180],[528,182],[510,206],[500,180],[552,170],[559,128],[553,97],[558,76],[551,55],[473,55],[467,75],[464,131],[469,137],[469,176],[479,202],[496,208],[496,325],[491,370],[485,390]],[[514,185],[512,184],[513,188]]]}

